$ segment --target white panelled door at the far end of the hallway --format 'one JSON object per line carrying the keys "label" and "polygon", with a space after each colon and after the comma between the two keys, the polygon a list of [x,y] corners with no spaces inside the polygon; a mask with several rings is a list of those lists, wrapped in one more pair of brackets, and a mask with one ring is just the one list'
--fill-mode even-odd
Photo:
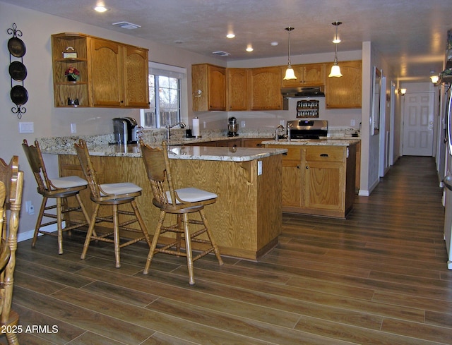
{"label": "white panelled door at the far end of the hallway", "polygon": [[403,111],[403,155],[432,156],[434,93],[405,94]]}

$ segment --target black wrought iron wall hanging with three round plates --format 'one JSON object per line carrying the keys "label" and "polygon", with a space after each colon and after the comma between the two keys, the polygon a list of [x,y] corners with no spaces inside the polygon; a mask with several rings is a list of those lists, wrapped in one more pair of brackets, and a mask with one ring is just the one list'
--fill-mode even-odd
{"label": "black wrought iron wall hanging with three round plates", "polygon": [[17,30],[16,23],[13,23],[12,28],[8,28],[6,32],[9,35],[13,35],[8,40],[9,51],[9,75],[11,75],[11,101],[16,104],[16,107],[12,107],[11,111],[17,114],[18,119],[22,119],[22,114],[25,114],[27,109],[23,107],[23,104],[28,101],[28,91],[23,86],[23,80],[27,78],[27,68],[23,64],[23,56],[27,49],[25,43],[20,40],[22,37],[22,31]]}

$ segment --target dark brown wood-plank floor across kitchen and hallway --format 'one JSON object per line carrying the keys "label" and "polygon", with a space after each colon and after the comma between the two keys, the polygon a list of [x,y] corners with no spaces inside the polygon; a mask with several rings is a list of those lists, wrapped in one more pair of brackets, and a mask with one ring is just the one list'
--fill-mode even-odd
{"label": "dark brown wood-plank floor across kitchen and hallway", "polygon": [[108,243],[80,260],[81,233],[63,255],[54,237],[21,242],[20,344],[452,344],[441,195],[432,157],[401,157],[347,220],[284,214],[262,260],[208,255],[194,287],[184,258],[156,255],[144,276],[143,243],[115,269]]}

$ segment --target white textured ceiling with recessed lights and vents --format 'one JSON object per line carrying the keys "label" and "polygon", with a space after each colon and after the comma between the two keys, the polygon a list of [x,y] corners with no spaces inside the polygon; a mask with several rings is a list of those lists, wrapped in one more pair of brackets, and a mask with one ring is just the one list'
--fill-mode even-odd
{"label": "white textured ceiling with recessed lights and vents", "polygon": [[[450,0],[0,0],[212,56],[228,52],[227,61],[285,56],[288,26],[291,54],[331,52],[335,21],[340,51],[361,50],[369,41],[401,81],[429,81],[443,69],[447,30],[452,26]],[[103,2],[109,11],[96,13]],[[126,21],[141,28],[126,30]],[[232,30],[236,37],[227,39]],[[272,42],[278,42],[273,46]],[[248,44],[253,52],[246,52]]]}

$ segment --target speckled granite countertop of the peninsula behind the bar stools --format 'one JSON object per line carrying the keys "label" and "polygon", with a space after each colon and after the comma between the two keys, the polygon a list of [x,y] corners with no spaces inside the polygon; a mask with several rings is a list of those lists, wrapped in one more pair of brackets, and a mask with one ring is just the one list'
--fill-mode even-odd
{"label": "speckled granite countertop of the peninsula behind the bar stools", "polygon": [[[88,145],[88,144],[87,144]],[[88,145],[90,155],[106,157],[141,157],[140,145]],[[168,147],[169,159],[194,159],[246,162],[262,159],[273,155],[282,155],[286,149],[250,148],[250,147],[210,147],[210,146],[180,146]],[[42,153],[50,155],[76,155],[72,145],[46,147]]]}

